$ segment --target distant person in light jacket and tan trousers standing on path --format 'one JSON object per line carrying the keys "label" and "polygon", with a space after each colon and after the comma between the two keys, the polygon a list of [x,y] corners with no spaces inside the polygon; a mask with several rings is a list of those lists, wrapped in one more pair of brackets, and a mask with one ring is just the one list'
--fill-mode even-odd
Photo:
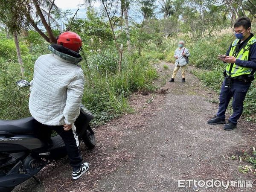
{"label": "distant person in light jacket and tan trousers standing on path", "polygon": [[175,50],[174,58],[175,61],[175,68],[172,73],[172,79],[169,82],[174,82],[176,74],[181,67],[182,73],[182,82],[185,83],[186,78],[186,64],[188,64],[188,58],[190,56],[189,49],[186,49],[184,41],[179,41],[178,48]]}

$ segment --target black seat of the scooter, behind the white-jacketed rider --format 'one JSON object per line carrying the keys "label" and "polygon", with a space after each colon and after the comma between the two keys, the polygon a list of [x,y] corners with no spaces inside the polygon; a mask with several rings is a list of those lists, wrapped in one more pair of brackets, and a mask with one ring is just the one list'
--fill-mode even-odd
{"label": "black seat of the scooter, behind the white-jacketed rider", "polygon": [[0,131],[11,134],[32,134],[38,129],[39,123],[31,116],[17,120],[0,120]]}

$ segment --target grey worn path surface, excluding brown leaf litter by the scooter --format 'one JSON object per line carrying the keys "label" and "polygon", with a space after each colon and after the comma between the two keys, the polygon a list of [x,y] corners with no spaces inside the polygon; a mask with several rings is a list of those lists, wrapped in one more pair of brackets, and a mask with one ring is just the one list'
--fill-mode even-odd
{"label": "grey worn path surface, excluding brown leaf litter by the scooter", "polygon": [[[169,67],[167,73],[174,66]],[[158,71],[166,73],[163,64],[159,65]],[[185,84],[180,81],[179,72],[175,83],[167,83],[163,87],[168,89],[168,94],[157,96],[151,106],[142,112],[143,117],[147,116],[141,121],[146,128],[125,128],[122,125],[125,132],[122,147],[133,151],[136,157],[100,180],[98,190],[172,192],[184,190],[178,188],[178,179],[256,179],[252,174],[238,172],[238,166],[245,163],[227,158],[239,149],[248,150],[242,145],[250,146],[248,134],[254,135],[255,126],[247,127],[240,121],[238,129],[228,132],[222,129],[223,125],[207,125],[207,120],[218,108],[209,100],[216,96],[211,90],[203,89],[191,74],[187,74]],[[254,142],[255,139],[254,136]],[[197,189],[200,187],[186,190]],[[203,190],[206,189],[200,189]]]}

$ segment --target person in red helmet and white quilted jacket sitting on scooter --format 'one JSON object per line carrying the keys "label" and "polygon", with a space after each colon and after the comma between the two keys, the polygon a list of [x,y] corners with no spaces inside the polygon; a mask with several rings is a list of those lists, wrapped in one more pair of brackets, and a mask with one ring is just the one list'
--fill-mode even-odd
{"label": "person in red helmet and white quilted jacket sitting on scooter", "polygon": [[[82,41],[74,32],[64,32],[57,44],[49,45],[52,54],[41,55],[34,66],[31,81],[29,111],[44,126],[44,131],[55,130],[62,138],[73,167],[73,179],[89,169],[79,152],[79,141],[74,122],[80,113],[84,92],[84,73],[78,63]],[[43,128],[42,128],[43,129]]]}

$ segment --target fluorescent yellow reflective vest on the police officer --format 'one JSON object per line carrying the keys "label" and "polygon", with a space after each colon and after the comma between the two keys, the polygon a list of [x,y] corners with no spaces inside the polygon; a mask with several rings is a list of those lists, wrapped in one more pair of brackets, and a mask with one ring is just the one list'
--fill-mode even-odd
{"label": "fluorescent yellow reflective vest on the police officer", "polygon": [[[248,61],[249,58],[249,52],[250,52],[250,47],[256,43],[256,38],[252,37],[250,40],[247,42],[247,44],[238,52],[236,53],[236,46],[239,42],[239,39],[236,39],[233,41],[231,48],[230,48],[230,56],[234,56],[237,59],[243,60],[243,61]],[[236,64],[227,64],[226,67],[226,73],[230,77],[238,77],[241,75],[249,75],[252,73],[253,69],[248,68],[248,67],[242,67]]]}

